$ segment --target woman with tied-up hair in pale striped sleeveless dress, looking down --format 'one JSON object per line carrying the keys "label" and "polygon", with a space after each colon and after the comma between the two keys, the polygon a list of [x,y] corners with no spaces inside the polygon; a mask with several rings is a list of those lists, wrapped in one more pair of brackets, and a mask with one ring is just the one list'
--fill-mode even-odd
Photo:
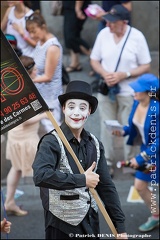
{"label": "woman with tied-up hair in pale striped sleeveless dress, looking down", "polygon": [[[30,36],[37,41],[34,49],[34,61],[38,74],[33,82],[60,125],[62,111],[58,96],[63,92],[62,46],[58,39],[48,31],[45,19],[38,10],[27,19],[26,29]],[[54,128],[49,119],[43,119],[41,122],[47,132]]]}

